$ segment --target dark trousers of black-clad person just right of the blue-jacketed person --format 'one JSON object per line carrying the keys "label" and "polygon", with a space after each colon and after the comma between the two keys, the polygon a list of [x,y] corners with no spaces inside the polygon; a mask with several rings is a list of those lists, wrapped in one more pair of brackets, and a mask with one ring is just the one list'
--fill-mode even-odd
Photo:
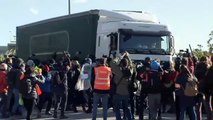
{"label": "dark trousers of black-clad person just right of the blue-jacketed person", "polygon": [[61,107],[61,116],[64,116],[64,111],[67,104],[67,94],[55,94],[55,105],[54,105],[54,114],[57,114],[59,107]]}

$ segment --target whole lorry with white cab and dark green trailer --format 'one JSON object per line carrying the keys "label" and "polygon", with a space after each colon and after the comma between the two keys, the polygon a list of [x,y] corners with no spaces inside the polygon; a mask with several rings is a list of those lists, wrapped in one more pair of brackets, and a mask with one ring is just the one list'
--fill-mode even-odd
{"label": "whole lorry with white cab and dark green trailer", "polygon": [[134,61],[150,57],[169,62],[174,39],[168,26],[140,11],[90,10],[17,27],[18,56],[44,59],[63,51],[96,58],[127,51]]}

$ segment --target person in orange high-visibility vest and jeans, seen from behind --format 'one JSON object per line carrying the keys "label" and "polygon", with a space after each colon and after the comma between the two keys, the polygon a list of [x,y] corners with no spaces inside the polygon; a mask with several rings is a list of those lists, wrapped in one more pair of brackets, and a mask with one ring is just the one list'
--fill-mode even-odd
{"label": "person in orange high-visibility vest and jeans, seen from behind", "polygon": [[92,120],[96,120],[97,107],[100,99],[102,99],[103,104],[103,120],[107,120],[108,97],[112,71],[110,67],[106,66],[105,58],[99,59],[99,65],[95,67],[94,75]]}

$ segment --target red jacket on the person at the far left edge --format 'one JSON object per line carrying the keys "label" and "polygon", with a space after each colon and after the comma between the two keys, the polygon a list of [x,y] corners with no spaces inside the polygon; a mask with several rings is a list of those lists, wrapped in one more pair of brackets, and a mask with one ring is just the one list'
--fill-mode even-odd
{"label": "red jacket on the person at the far left edge", "polygon": [[6,71],[0,71],[0,93],[7,93],[7,73]]}

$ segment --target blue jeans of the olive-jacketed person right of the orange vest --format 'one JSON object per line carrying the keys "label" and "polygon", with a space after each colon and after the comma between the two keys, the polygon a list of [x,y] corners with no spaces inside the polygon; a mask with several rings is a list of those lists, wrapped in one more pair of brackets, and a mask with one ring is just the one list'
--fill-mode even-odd
{"label": "blue jeans of the olive-jacketed person right of the orange vest", "polygon": [[120,113],[121,105],[123,107],[123,111],[126,115],[127,120],[132,120],[131,113],[128,108],[128,106],[129,106],[129,96],[128,95],[127,96],[114,95],[113,103],[114,103],[114,111],[115,111],[116,120],[122,120],[121,113]]}

